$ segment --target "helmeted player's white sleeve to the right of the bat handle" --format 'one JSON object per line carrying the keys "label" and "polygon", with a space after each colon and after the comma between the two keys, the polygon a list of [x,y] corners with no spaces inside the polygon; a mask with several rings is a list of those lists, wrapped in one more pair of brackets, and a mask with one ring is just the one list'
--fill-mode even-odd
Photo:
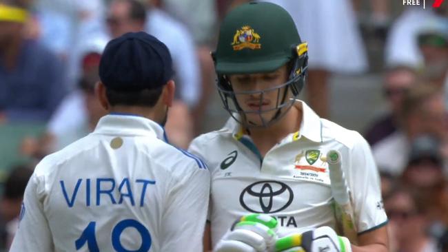
{"label": "helmeted player's white sleeve to the right of the bat handle", "polygon": [[354,200],[358,233],[371,231],[387,223],[381,198],[380,176],[367,141],[357,133],[358,141],[350,150],[349,187]]}

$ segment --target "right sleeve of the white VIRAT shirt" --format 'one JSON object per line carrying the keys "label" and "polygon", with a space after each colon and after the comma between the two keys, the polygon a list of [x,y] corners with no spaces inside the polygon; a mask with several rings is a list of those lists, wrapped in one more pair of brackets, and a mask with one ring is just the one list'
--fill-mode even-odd
{"label": "right sleeve of the white VIRAT shirt", "polygon": [[167,196],[161,251],[203,251],[210,173],[198,167],[187,171],[192,172],[191,176],[183,176],[180,180],[174,178],[172,190]]}

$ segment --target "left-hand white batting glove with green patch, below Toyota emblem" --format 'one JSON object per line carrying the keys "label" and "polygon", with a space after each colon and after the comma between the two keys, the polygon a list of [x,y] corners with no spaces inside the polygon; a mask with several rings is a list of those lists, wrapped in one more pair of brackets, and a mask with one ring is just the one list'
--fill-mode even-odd
{"label": "left-hand white batting glove with green patch, below Toyota emblem", "polygon": [[265,214],[243,216],[216,244],[214,252],[267,252],[274,246],[277,220]]}

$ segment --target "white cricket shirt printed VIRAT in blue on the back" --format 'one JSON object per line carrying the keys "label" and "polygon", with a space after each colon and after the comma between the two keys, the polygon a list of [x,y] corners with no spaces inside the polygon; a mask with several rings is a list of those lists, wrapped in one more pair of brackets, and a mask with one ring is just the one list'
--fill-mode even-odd
{"label": "white cricket shirt printed VIRAT in blue on the back", "polygon": [[202,251],[210,172],[139,116],[108,115],[45,157],[11,251]]}

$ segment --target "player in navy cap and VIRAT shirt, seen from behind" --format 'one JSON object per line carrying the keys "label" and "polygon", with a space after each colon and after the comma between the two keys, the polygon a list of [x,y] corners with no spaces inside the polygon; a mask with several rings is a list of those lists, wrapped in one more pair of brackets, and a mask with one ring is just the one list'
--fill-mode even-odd
{"label": "player in navy cap and VIRAT shirt, seen from behind", "polygon": [[108,43],[96,94],[110,114],[37,165],[11,251],[203,249],[210,172],[166,143],[173,74],[170,52],[154,36]]}

